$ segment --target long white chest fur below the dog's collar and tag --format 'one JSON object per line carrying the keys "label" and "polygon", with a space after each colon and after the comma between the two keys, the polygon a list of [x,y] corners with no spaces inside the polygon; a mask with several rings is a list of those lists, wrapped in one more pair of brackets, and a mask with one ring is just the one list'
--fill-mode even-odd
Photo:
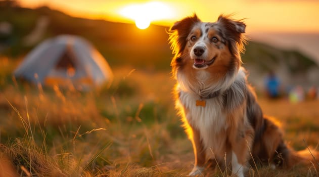
{"label": "long white chest fur below the dog's collar and tag", "polygon": [[199,96],[180,91],[180,104],[188,110],[184,110],[187,121],[192,127],[199,130],[208,157],[212,157],[212,154],[223,154],[224,152],[221,151],[226,145],[226,139],[223,135],[228,125],[226,114],[222,113],[222,98],[205,100],[205,107],[196,106],[197,100],[199,100]]}

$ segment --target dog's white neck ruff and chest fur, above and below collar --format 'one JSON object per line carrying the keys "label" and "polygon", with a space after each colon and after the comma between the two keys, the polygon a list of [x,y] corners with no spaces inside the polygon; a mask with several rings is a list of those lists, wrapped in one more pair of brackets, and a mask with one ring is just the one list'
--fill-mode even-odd
{"label": "dog's white neck ruff and chest fur, above and below collar", "polygon": [[[205,85],[205,81],[209,73],[198,72],[196,75],[197,83],[191,84],[183,73],[177,73],[178,85],[176,87],[179,93],[180,108],[183,108],[188,123],[200,132],[200,139],[206,149],[208,158],[218,155],[224,155],[226,147],[226,130],[229,128],[227,124],[227,113],[224,112],[223,98],[217,96],[215,98],[205,99],[206,106],[196,106],[196,101],[200,100],[200,96],[196,91],[203,93],[212,93],[214,90],[230,87],[235,80],[245,80],[244,69],[241,68],[238,74],[231,79],[223,82]],[[240,89],[237,89],[241,92]],[[177,105],[178,106],[178,105]],[[214,155],[212,155],[214,154]]]}

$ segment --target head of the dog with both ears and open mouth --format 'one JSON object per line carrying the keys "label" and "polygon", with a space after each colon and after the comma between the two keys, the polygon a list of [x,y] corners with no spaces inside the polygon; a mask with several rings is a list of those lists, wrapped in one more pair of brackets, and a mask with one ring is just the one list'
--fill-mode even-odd
{"label": "head of the dog with both ears and open mouth", "polygon": [[184,64],[210,72],[238,71],[244,50],[246,25],[242,21],[219,16],[214,23],[202,22],[196,14],[177,21],[170,28],[169,41],[175,54],[173,70]]}

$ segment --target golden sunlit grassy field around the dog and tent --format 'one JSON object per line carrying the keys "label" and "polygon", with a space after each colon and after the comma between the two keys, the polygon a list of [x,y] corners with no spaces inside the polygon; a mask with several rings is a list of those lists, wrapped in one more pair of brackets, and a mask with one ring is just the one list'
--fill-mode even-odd
{"label": "golden sunlit grassy field around the dog and tent", "polygon": [[[169,71],[115,68],[110,88],[79,93],[17,82],[11,76],[16,65],[0,59],[0,176],[185,176],[192,169]],[[283,124],[294,149],[317,146],[318,100],[261,97],[259,103]],[[316,165],[250,168],[248,175],[317,176]]]}

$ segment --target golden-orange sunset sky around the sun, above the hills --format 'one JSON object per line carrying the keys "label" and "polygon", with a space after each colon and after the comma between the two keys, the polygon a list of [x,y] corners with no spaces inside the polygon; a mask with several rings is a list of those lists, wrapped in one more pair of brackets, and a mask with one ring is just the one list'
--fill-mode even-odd
{"label": "golden-orange sunset sky around the sun, above the hills", "polygon": [[[202,21],[215,21],[219,14],[235,14],[234,18],[246,18],[248,32],[319,32],[318,0],[19,0],[24,7],[49,6],[77,17],[133,22],[121,15],[129,5],[161,2],[170,12],[159,14],[153,24],[170,26],[192,13]],[[161,8],[152,9],[150,13]],[[169,14],[169,15],[167,15]],[[144,15],[145,17],[149,15]]]}

